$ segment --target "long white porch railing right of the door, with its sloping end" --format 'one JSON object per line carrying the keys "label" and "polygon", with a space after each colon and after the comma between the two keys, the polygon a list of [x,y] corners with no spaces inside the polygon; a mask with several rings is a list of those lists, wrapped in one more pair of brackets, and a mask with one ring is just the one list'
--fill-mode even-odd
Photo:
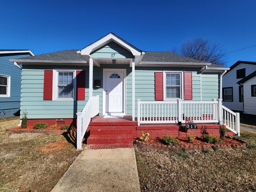
{"label": "long white porch railing right of the door, with its sloping end", "polygon": [[[195,123],[223,124],[239,135],[239,113],[234,113],[222,105],[221,99],[212,101],[141,101],[137,100],[137,123],[168,124],[185,123],[189,118]],[[236,122],[236,124],[234,124]],[[234,126],[236,125],[236,126]]]}

